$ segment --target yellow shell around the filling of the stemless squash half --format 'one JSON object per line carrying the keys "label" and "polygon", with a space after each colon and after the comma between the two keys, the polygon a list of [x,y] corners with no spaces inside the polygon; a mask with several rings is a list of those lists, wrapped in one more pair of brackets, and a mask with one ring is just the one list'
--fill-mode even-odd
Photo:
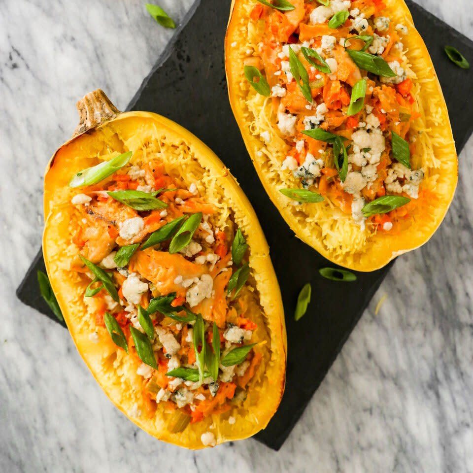
{"label": "yellow shell around the filling of the stemless squash half", "polygon": [[[248,57],[246,50],[251,43],[249,37],[252,35],[252,42],[258,42],[254,25],[248,26],[248,14],[257,4],[255,0],[233,0],[225,40],[230,103],[248,153],[271,201],[305,243],[334,263],[358,271],[382,268],[395,257],[426,243],[442,222],[458,179],[457,155],[448,112],[427,48],[414,28],[405,2],[384,0],[384,3],[387,8],[383,14],[395,24],[402,23],[409,29],[403,42],[410,69],[417,76],[414,80],[415,98],[421,113],[421,117],[414,121],[415,131],[421,132],[421,135],[418,151],[412,158],[416,167],[427,169],[424,184],[432,196],[429,202],[417,205],[409,218],[399,224],[396,232],[370,234],[368,230],[361,230],[350,221],[350,215],[343,214],[327,199],[322,203],[294,206],[278,191],[285,187],[300,187],[300,184],[288,175],[290,173],[280,170],[284,149],[278,155],[277,146],[278,142],[282,143],[282,138],[274,114],[270,120],[270,129],[275,137],[268,147],[255,126],[254,109],[248,107],[247,100],[252,92],[244,77],[243,66],[245,57]],[[265,115],[265,119],[268,115]],[[314,205],[319,207],[315,209]]]}

